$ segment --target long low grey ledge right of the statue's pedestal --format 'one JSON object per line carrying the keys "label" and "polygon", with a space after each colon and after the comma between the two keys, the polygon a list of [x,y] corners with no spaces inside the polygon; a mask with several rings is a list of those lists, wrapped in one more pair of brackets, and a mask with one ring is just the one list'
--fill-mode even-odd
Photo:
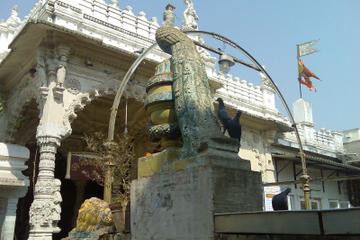
{"label": "long low grey ledge right of the statue's pedestal", "polygon": [[215,214],[215,232],[233,236],[357,235],[360,239],[359,226],[360,208]]}

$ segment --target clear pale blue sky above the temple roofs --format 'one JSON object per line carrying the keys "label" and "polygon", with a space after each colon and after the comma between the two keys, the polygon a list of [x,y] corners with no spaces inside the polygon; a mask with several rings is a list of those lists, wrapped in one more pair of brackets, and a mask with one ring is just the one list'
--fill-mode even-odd
{"label": "clear pale blue sky above the temple roofs", "polygon": [[[6,19],[15,4],[23,17],[35,2],[0,0],[0,19]],[[159,22],[168,3],[177,7],[176,23],[180,25],[182,0],[119,1],[120,8],[131,5],[135,14],[144,11],[148,18],[156,16]],[[320,51],[303,57],[305,65],[321,78],[313,80],[316,93],[303,88],[303,98],[312,103],[315,128],[340,131],[360,127],[357,72],[360,0],[193,0],[193,3],[199,29],[229,37],[250,52],[266,66],[290,107],[299,98],[296,44],[320,39],[316,45]],[[221,44],[216,47],[228,50]],[[236,57],[244,59],[237,54]],[[245,67],[236,66],[231,73],[260,83],[259,75]],[[282,108],[279,100],[277,106]]]}

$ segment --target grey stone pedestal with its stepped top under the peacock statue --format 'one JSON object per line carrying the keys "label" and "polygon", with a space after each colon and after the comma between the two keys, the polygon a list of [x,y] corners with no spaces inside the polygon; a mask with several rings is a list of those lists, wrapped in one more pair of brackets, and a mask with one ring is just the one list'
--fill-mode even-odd
{"label": "grey stone pedestal with its stepped top under the peacock statue", "polygon": [[261,176],[239,159],[236,146],[215,139],[195,158],[178,160],[179,150],[168,149],[139,159],[130,197],[132,239],[213,239],[214,213],[261,210]]}

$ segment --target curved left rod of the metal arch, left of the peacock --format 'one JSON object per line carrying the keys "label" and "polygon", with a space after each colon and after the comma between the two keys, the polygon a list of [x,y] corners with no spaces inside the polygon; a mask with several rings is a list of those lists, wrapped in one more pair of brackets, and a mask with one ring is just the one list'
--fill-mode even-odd
{"label": "curved left rod of the metal arch, left of the peacock", "polygon": [[145,59],[146,55],[157,46],[157,43],[154,43],[150,47],[148,47],[140,56],[135,60],[135,62],[131,65],[129,70],[126,72],[123,80],[120,83],[120,86],[116,92],[116,96],[111,107],[111,114],[109,119],[109,128],[108,128],[108,141],[114,140],[114,132],[115,132],[115,122],[116,122],[116,115],[119,108],[121,97],[125,91],[125,87],[129,82],[131,76],[134,74],[136,69],[139,67],[140,63]]}

